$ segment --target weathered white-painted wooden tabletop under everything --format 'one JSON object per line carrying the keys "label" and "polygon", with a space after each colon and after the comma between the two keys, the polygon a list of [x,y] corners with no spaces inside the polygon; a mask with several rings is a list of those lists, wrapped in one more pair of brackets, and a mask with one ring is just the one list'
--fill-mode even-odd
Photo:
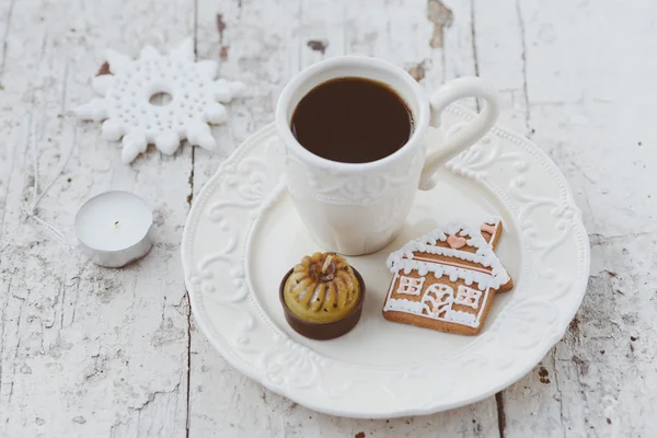
{"label": "weathered white-painted wooden tabletop under everything", "polygon": [[[66,114],[89,101],[106,47],[136,56],[194,36],[247,96],[215,128],[220,152],[154,149],[131,166],[100,125]],[[657,436],[657,4],[650,0],[2,0],[0,1],[0,436],[436,437]],[[503,124],[566,174],[592,245],[589,290],[565,338],[509,389],[427,417],[351,420],[285,400],[229,367],[189,313],[180,261],[194,195],[278,92],[324,57],[366,53],[428,90],[480,74]],[[25,215],[72,237],[91,195],[127,189],[155,209],[141,262],[100,268]]]}

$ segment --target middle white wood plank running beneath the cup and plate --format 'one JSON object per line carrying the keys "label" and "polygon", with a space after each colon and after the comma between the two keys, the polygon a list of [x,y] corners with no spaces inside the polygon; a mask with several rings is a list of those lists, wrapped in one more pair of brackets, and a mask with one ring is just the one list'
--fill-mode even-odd
{"label": "middle white wood plank running beneath the cup and plate", "polygon": [[[474,72],[470,10],[453,2],[457,21],[446,30],[446,59],[427,67],[438,85],[443,77]],[[222,36],[217,26],[221,14]],[[276,16],[277,20],[272,20]],[[460,21],[459,21],[460,20]],[[262,23],[268,23],[263,26]],[[462,23],[462,24],[457,24]],[[230,122],[215,129],[222,152],[195,155],[194,191],[203,184],[247,134],[273,120],[280,89],[291,76],[324,57],[365,53],[410,68],[425,59],[442,59],[429,42],[434,25],[425,1],[276,2],[199,1],[198,56],[218,59],[221,74],[242,76],[249,95],[234,101]],[[223,51],[221,46],[227,47]],[[323,50],[323,53],[322,53]],[[470,66],[470,67],[466,67]],[[390,420],[357,420],[318,414],[280,397],[241,376],[212,349],[205,336],[192,332],[191,434],[217,437],[416,437],[440,434],[494,437],[497,408],[491,397],[472,406],[437,415]]]}

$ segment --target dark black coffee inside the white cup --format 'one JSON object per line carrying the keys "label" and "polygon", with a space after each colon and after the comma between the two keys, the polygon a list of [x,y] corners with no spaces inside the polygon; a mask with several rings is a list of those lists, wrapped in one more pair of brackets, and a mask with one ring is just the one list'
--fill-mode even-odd
{"label": "dark black coffee inside the white cup", "polygon": [[388,85],[339,78],[311,90],[295,110],[291,129],[306,149],[343,163],[377,161],[399,150],[413,134],[413,117]]}

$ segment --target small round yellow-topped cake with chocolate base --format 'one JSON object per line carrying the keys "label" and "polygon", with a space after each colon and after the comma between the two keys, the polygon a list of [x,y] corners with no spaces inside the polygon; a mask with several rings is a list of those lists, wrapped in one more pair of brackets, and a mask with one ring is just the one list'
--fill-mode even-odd
{"label": "small round yellow-topped cake with chocolate base", "polygon": [[290,269],[280,283],[280,302],[290,326],[313,339],[349,332],[360,319],[362,277],[335,253],[314,253]]}

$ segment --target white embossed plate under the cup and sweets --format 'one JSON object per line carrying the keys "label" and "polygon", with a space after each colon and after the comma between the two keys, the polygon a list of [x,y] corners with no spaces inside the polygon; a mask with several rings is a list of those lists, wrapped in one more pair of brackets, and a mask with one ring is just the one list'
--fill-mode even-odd
{"label": "white embossed plate under the cup and sweets", "polygon": [[[449,131],[472,117],[450,107]],[[495,128],[418,192],[402,235],[349,262],[362,274],[362,318],[347,335],[311,341],[278,301],[285,273],[320,250],[285,191],[269,125],[250,137],[195,197],[183,265],[198,326],[237,369],[310,408],[349,417],[430,414],[465,405],[530,371],[561,339],[586,290],[589,244],[562,173],[535,145]],[[485,145],[482,145],[485,143]],[[495,298],[475,337],[395,324],[381,315],[388,254],[447,222],[505,222],[496,254],[515,288]]]}

